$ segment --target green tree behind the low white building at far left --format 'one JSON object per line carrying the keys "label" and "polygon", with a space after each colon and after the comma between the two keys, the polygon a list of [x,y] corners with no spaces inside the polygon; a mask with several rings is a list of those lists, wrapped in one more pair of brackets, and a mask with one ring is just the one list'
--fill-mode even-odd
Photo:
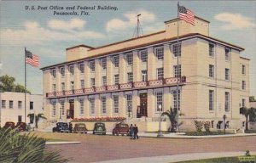
{"label": "green tree behind the low white building at far left", "polygon": [[15,78],[12,76],[0,76],[0,92],[13,92],[15,88]]}

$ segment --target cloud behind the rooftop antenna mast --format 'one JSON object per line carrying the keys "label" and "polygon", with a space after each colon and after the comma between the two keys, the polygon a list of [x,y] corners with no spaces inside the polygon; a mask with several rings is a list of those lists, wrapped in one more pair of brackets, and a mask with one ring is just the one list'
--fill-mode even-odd
{"label": "cloud behind the rooftop antenna mast", "polygon": [[130,13],[124,14],[125,20],[113,19],[109,20],[106,25],[106,31],[125,31],[127,29],[134,28],[137,24],[137,14],[141,14],[140,22],[142,25],[146,25],[148,23],[153,23],[155,21],[155,15],[149,13],[148,11],[141,9],[139,11],[134,11]]}

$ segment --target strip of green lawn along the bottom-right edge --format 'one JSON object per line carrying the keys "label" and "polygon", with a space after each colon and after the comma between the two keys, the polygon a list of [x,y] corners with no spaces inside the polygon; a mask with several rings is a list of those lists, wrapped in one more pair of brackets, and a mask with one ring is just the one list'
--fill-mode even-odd
{"label": "strip of green lawn along the bottom-right edge", "polygon": [[255,163],[255,161],[240,161],[238,157],[223,157],[206,160],[187,160],[178,163]]}

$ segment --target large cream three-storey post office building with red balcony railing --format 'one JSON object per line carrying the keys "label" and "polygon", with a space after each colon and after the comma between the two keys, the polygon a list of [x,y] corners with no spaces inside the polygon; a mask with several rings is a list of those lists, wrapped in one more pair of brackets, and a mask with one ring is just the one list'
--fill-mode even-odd
{"label": "large cream three-storey post office building with red balcony railing", "polygon": [[[177,23],[178,40],[177,40]],[[67,48],[66,62],[44,71],[44,114],[49,120],[121,116],[158,121],[170,107],[180,110],[183,129],[223,115],[241,126],[248,104],[249,59],[240,48],[209,36],[210,22],[195,17],[165,22],[166,30],[92,48]]]}

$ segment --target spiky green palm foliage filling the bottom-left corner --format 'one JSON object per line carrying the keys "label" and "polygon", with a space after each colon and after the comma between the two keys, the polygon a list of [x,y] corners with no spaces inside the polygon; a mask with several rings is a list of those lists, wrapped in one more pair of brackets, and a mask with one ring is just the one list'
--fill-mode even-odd
{"label": "spiky green palm foliage filling the bottom-left corner", "polygon": [[0,128],[0,162],[67,162],[59,151],[45,148],[45,139]]}

